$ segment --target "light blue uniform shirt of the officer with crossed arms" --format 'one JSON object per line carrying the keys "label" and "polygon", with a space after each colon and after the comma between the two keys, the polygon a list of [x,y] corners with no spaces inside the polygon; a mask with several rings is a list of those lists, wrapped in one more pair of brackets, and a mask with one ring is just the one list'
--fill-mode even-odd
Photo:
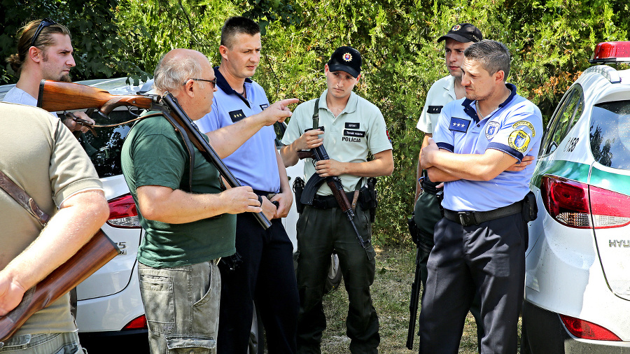
{"label": "light blue uniform shirt of the officer with crossed arms", "polygon": [[[538,156],[542,137],[542,115],[535,104],[511,94],[496,111],[479,121],[475,101],[459,99],[444,106],[433,139],[437,146],[458,154],[483,154],[487,149],[503,151],[522,160]],[[535,160],[523,171],[503,171],[489,181],[454,180],[444,183],[442,206],[452,211],[490,211],[520,201],[529,192]]]}

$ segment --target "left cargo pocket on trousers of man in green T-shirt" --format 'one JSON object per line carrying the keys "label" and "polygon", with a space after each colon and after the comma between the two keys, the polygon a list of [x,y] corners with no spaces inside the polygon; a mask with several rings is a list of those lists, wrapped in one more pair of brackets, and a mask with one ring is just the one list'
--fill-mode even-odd
{"label": "left cargo pocket on trousers of man in green T-shirt", "polygon": [[169,334],[175,329],[173,281],[167,276],[140,276],[140,294],[149,330]]}

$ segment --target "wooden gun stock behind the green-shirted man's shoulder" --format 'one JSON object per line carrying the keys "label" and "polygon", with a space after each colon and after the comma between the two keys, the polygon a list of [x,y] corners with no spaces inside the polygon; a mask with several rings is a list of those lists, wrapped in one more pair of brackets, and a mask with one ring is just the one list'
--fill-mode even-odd
{"label": "wooden gun stock behind the green-shirted man's shoulder", "polygon": [[41,80],[38,96],[37,106],[50,112],[99,108],[101,113],[108,115],[118,106],[152,109],[157,103],[151,96],[120,96],[96,87],[50,80]]}

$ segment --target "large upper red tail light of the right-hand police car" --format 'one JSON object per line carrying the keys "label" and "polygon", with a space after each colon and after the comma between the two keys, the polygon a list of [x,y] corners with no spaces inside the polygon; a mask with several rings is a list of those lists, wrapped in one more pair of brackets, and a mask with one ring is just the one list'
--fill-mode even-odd
{"label": "large upper red tail light of the right-hand police car", "polygon": [[566,178],[543,176],[540,186],[547,213],[578,229],[630,224],[630,196]]}

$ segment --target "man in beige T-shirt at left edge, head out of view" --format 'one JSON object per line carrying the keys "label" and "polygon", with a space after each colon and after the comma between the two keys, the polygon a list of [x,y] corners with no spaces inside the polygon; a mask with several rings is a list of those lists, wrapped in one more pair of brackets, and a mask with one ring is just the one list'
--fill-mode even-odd
{"label": "man in beige T-shirt at left edge, head out of view", "polygon": [[[0,117],[0,171],[17,185],[6,182],[0,189],[3,318],[20,304],[29,288],[97,232],[109,207],[90,158],[58,119],[39,108],[8,103],[0,103]],[[6,192],[12,186],[52,215],[45,228],[44,222]],[[1,346],[0,353],[83,353],[69,295],[34,313]]]}

